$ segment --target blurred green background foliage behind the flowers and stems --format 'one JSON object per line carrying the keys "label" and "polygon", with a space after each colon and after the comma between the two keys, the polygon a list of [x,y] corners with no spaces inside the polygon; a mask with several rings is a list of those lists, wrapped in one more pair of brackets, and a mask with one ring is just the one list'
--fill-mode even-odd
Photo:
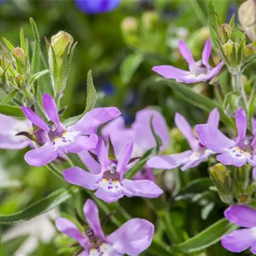
{"label": "blurred green background foliage behind the flowers and stems", "polygon": [[[88,11],[87,1],[0,2],[1,36],[13,45],[20,44],[21,26],[24,27],[26,36],[33,40],[29,17],[33,17],[38,26],[45,60],[47,49],[44,37],[50,40],[51,36],[63,30],[78,42],[61,102],[62,107],[68,106],[65,117],[83,112],[86,74],[92,69],[98,92],[97,106],[120,108],[127,126],[132,123],[139,109],[148,106],[159,109],[170,127],[172,143],[168,151],[180,152],[188,148],[186,141],[174,128],[174,113],[182,113],[191,125],[204,122],[207,115],[185,103],[167,86],[156,84],[157,75],[151,68],[156,65],[186,68],[185,61],[177,51],[179,40],[188,43],[195,60],[200,59],[205,40],[209,37],[207,1],[122,0],[116,4],[116,8],[106,13]],[[221,22],[229,21],[241,2],[243,1],[214,1]],[[212,65],[218,61],[213,52]],[[223,77],[229,79],[225,75]],[[47,90],[47,83],[50,83],[49,77],[44,77],[40,86],[45,86]],[[200,94],[209,97],[214,95],[211,85],[188,86],[192,86]],[[66,186],[65,182],[58,180],[45,167],[28,166],[23,158],[25,152],[26,150],[0,150],[0,214],[20,211],[42,196]],[[208,189],[211,185],[209,180],[206,181],[209,179],[206,166],[202,164],[197,170],[186,173],[180,173],[179,170],[161,173],[166,175],[164,180],[167,182],[163,186],[168,190],[170,214],[175,220],[181,240],[195,235],[221,218],[226,207],[220,202],[216,192],[207,190],[204,193],[205,186]],[[204,188],[196,186],[195,189],[195,185],[193,187],[191,184],[194,179],[205,179]],[[182,196],[184,191],[186,196]],[[81,208],[85,198],[86,195],[81,193],[45,216],[15,227],[1,226],[4,242],[0,255],[69,255],[65,251],[56,251],[58,245],[66,246],[66,240],[63,237],[53,239],[56,231],[50,219],[60,212],[74,215],[75,207]],[[145,203],[141,207],[140,199],[122,199],[121,204],[132,216],[156,220]],[[110,226],[109,229],[111,228]],[[224,252],[220,245],[212,246],[202,255],[206,254],[232,255]]]}

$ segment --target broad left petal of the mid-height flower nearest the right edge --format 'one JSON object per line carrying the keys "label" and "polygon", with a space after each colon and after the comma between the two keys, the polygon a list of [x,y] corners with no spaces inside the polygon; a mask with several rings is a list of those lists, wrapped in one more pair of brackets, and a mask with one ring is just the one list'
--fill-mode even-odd
{"label": "broad left petal of the mid-height flower nearest the right edge", "polygon": [[216,153],[222,153],[227,148],[235,146],[235,141],[228,139],[220,130],[209,124],[196,125],[196,134],[200,143]]}

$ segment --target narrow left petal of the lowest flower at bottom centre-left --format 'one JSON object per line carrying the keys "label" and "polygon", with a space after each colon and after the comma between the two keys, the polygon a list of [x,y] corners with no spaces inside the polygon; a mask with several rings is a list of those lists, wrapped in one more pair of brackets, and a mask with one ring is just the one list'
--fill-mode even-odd
{"label": "narrow left petal of the lowest flower at bottom centre-left", "polygon": [[83,246],[83,248],[88,249],[88,240],[81,234],[80,230],[74,225],[74,223],[66,218],[56,218],[55,224],[58,231],[72,237],[72,239],[75,239],[81,246]]}

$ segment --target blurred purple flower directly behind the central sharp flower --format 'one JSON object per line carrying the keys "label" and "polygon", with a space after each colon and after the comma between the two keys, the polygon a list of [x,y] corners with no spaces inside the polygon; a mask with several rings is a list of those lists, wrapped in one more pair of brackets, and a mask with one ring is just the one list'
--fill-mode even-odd
{"label": "blurred purple flower directly behind the central sharp flower", "polygon": [[[147,150],[156,147],[156,140],[150,130],[150,118],[152,116],[154,131],[162,140],[160,150],[163,151],[170,143],[170,136],[164,117],[153,109],[143,109],[137,112],[135,122],[131,125],[131,128],[125,127],[125,120],[121,116],[112,120],[102,129],[103,138],[107,140],[108,136],[110,136],[113,145],[115,145],[117,155],[120,154],[129,141],[132,141],[134,150],[131,157],[141,157]],[[143,170],[134,176],[134,179],[155,181],[153,169],[146,164]]]}

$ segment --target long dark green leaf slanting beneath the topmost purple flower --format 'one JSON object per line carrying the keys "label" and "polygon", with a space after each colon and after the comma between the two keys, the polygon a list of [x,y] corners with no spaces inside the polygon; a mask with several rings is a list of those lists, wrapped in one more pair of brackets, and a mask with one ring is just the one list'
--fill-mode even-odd
{"label": "long dark green leaf slanting beneath the topmost purple flower", "polygon": [[235,128],[235,123],[230,118],[228,118],[225,113],[222,110],[222,107],[220,104],[213,102],[213,100],[195,93],[193,90],[189,88],[189,86],[186,86],[184,84],[178,84],[173,80],[167,80],[167,79],[159,79],[158,81],[162,81],[165,84],[167,84],[170,88],[172,88],[179,96],[186,100],[186,102],[189,102],[193,104],[195,107],[198,107],[206,112],[211,112],[213,108],[218,108],[218,111],[220,111],[221,121],[224,122],[228,126],[232,126]]}

